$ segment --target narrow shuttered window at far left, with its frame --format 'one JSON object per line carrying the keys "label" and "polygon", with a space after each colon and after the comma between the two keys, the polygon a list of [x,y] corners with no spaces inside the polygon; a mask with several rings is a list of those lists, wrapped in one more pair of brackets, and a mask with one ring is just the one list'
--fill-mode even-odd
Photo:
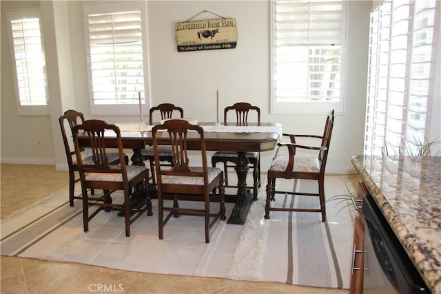
{"label": "narrow shuttered window at far left, with its frame", "polygon": [[17,112],[49,114],[46,63],[39,9],[8,10]]}

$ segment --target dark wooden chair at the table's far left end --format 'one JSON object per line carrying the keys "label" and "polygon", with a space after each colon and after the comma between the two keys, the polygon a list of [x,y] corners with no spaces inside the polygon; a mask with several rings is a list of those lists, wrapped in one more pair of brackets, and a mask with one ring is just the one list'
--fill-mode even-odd
{"label": "dark wooden chair at the table's far left end", "polygon": [[[76,177],[76,172],[78,171],[78,164],[76,162],[75,150],[73,149],[73,141],[72,139],[72,128],[76,125],[83,123],[84,115],[81,112],[77,112],[76,110],[67,110],[64,112],[62,116],[59,117],[59,123],[61,127],[61,136],[63,137],[64,149],[66,158],[68,160],[68,169],[69,169],[69,203],[70,206],[74,206],[74,199],[81,199],[81,196],[75,196],[75,183],[79,182],[80,178]],[[68,132],[70,132],[68,134]],[[72,148],[71,148],[72,145]],[[92,162],[92,156],[86,156],[87,152],[85,152],[84,148],[81,148],[81,154],[85,156],[83,158],[83,164],[88,165]],[[111,164],[119,164],[119,154],[117,153],[108,153],[107,158],[109,163]],[[126,164],[129,160],[128,156],[124,158]],[[94,191],[91,191],[92,195]]]}

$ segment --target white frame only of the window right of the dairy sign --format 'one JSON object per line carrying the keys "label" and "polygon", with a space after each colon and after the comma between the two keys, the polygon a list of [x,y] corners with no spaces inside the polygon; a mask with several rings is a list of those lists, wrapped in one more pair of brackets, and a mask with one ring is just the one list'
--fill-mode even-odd
{"label": "white frame only of the window right of the dairy sign", "polygon": [[[312,2],[313,0],[311,0]],[[336,113],[345,112],[345,76],[346,76],[346,23],[347,1],[342,1],[342,31],[340,49],[340,98],[338,101],[277,101],[276,97],[276,44],[275,44],[275,17],[277,1],[270,1],[271,6],[271,113],[272,114],[327,114],[329,109],[335,109]],[[305,1],[302,1],[305,3]],[[306,1],[307,2],[307,1]],[[329,44],[331,45],[331,44]],[[309,83],[309,82],[308,82]],[[310,93],[309,93],[310,94]]]}

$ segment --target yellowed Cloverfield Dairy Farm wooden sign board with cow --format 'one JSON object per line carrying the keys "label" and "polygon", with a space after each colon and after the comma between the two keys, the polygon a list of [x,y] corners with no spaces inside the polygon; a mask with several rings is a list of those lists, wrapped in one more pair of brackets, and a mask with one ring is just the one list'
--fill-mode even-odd
{"label": "yellowed Cloverfield Dairy Farm wooden sign board with cow", "polygon": [[178,52],[236,48],[236,19],[185,21],[175,30]]}

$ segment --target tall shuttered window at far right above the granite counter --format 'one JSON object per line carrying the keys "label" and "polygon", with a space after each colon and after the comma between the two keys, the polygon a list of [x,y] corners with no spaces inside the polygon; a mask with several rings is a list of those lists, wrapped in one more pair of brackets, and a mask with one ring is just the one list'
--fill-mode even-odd
{"label": "tall shuttered window at far right above the granite counter", "polygon": [[418,155],[429,143],[440,7],[384,1],[371,12],[365,154]]}

